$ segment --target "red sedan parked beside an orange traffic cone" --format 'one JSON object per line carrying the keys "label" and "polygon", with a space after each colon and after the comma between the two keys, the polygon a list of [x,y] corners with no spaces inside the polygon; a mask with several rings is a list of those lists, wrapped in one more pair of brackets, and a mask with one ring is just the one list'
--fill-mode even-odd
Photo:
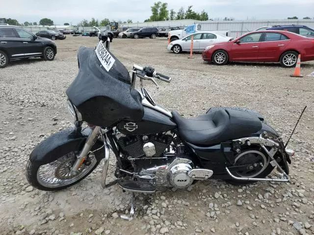
{"label": "red sedan parked beside an orange traffic cone", "polygon": [[289,68],[295,66],[298,54],[301,54],[301,61],[314,60],[314,38],[287,31],[265,30],[205,47],[202,57],[216,65],[225,65],[229,61],[256,61],[280,62]]}

